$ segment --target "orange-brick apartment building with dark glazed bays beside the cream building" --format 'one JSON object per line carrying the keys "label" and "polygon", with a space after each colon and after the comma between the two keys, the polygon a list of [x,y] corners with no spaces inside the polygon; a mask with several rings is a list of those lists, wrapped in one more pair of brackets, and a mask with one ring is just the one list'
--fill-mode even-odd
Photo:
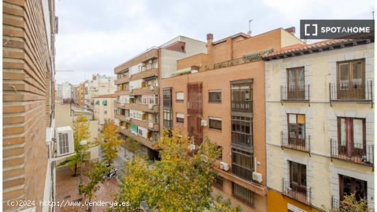
{"label": "orange-brick apartment building with dark glazed bays beside the cream building", "polygon": [[265,62],[261,56],[302,44],[294,28],[214,41],[206,53],[178,60],[160,82],[160,130],[182,128],[195,145],[204,137],[218,145],[214,193],[243,211],[267,211],[265,154]]}

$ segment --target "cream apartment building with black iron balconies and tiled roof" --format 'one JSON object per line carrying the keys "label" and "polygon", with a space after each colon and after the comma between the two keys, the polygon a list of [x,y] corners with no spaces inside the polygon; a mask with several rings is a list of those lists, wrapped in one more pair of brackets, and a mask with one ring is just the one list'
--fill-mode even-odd
{"label": "cream apartment building with black iron balconies and tiled roof", "polygon": [[374,208],[374,37],[265,56],[267,211]]}

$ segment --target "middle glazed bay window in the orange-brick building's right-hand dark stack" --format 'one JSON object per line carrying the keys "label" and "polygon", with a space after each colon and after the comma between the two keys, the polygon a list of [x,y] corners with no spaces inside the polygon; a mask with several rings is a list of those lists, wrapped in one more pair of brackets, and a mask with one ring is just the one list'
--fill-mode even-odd
{"label": "middle glazed bay window in the orange-brick building's right-hand dark stack", "polygon": [[232,116],[231,141],[237,145],[252,146],[252,118]]}

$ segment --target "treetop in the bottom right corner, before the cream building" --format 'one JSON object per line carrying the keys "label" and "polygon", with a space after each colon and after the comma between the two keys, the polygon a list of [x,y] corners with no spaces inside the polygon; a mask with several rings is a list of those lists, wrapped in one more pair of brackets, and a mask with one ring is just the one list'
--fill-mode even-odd
{"label": "treetop in the bottom right corner, before the cream building", "polygon": [[336,211],[336,212],[365,212],[365,211],[373,211],[372,209],[368,208],[367,200],[365,198],[356,200],[356,196],[354,193],[350,195],[344,195],[343,200],[339,202],[338,209],[327,209],[326,207],[322,206],[324,211]]}

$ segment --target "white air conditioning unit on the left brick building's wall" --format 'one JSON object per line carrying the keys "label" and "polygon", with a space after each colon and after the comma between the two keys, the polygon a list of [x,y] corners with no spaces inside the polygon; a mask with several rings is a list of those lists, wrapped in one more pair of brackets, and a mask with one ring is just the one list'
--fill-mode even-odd
{"label": "white air conditioning unit on the left brick building's wall", "polygon": [[73,142],[73,130],[70,126],[56,128],[55,136],[58,153],[57,156],[75,153],[75,144]]}

